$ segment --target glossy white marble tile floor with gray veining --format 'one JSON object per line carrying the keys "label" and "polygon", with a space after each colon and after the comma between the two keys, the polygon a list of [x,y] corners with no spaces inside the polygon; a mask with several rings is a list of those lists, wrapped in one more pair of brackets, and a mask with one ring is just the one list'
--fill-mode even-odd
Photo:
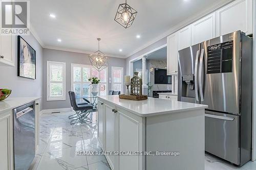
{"label": "glossy white marble tile floor with gray veining", "polygon": [[[104,156],[77,156],[77,151],[101,151],[97,140],[96,116],[93,123],[70,125],[72,112],[42,114],[40,117],[40,146],[30,170],[110,170]],[[256,162],[242,167],[205,153],[205,170],[252,170]],[[120,169],[121,170],[121,169]]]}

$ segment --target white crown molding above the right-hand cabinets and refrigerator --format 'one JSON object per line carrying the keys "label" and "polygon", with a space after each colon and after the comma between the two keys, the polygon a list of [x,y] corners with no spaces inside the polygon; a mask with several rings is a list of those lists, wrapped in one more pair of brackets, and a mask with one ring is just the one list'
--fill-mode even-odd
{"label": "white crown molding above the right-hand cabinets and refrigerator", "polygon": [[180,29],[190,25],[191,23],[193,23],[193,22],[195,22],[195,21],[197,21],[197,20],[207,16],[210,13],[213,13],[213,12],[217,11],[221,7],[231,3],[233,1],[235,1],[235,0],[228,0],[225,3],[219,2],[215,6],[212,6],[210,8],[205,9],[205,10],[202,10],[202,12],[187,18],[186,20],[184,20],[184,21],[180,22],[178,25],[170,28],[169,30],[167,30],[163,34],[159,35],[158,37],[154,38],[153,40],[146,42],[144,45],[138,47],[136,50],[134,50],[130,54],[126,55],[125,58],[131,57],[132,55],[134,55],[134,54],[138,53],[139,51],[143,50],[144,48],[146,48],[147,46],[150,46],[150,45],[154,44],[155,42],[161,40],[162,38],[165,38],[168,35],[177,32],[178,30],[180,30]]}

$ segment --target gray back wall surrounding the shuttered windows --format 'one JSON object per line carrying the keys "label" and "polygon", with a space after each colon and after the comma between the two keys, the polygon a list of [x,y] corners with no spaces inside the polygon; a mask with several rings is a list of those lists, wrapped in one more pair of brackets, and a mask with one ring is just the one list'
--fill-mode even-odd
{"label": "gray back wall surrounding the shuttered windows", "polygon": [[[58,108],[68,108],[70,107],[68,91],[71,90],[71,63],[73,64],[87,64],[90,65],[89,55],[82,53],[66,52],[59,50],[50,50],[44,48],[43,50],[44,60],[43,60],[43,98],[42,98],[42,109],[58,109]],[[123,72],[125,75],[125,59],[108,57],[109,59],[109,78],[111,78],[111,67],[123,67]],[[47,93],[47,61],[58,61],[66,62],[66,100],[65,101],[46,101]],[[111,84],[109,84],[108,89],[111,89]]]}

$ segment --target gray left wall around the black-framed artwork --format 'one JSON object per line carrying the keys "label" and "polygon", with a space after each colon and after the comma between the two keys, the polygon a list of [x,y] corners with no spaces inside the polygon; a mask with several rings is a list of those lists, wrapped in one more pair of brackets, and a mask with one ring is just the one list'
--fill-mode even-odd
{"label": "gray left wall around the black-framed artwork", "polygon": [[15,66],[0,64],[0,88],[12,90],[11,97],[42,96],[42,47],[30,33],[22,36],[36,51],[36,80],[17,76],[17,36],[15,37]]}

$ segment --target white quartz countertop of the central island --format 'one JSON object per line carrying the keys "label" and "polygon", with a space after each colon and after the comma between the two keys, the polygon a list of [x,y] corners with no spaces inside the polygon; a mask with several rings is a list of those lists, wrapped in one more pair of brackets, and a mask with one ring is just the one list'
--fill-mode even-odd
{"label": "white quartz countertop of the central island", "polygon": [[144,101],[132,101],[119,99],[118,95],[104,95],[99,96],[98,99],[103,103],[110,102],[117,107],[141,117],[204,109],[208,107],[207,105],[178,102],[176,99],[163,100],[158,98],[148,98]]}

